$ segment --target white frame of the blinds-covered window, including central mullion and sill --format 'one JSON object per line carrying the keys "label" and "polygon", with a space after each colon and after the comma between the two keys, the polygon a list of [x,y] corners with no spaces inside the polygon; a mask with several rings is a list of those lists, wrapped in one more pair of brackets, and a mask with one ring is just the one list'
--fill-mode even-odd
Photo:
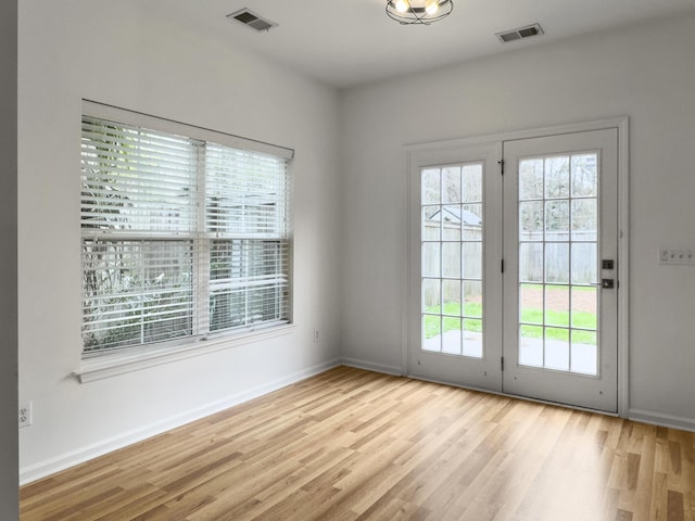
{"label": "white frame of the blinds-covered window, including central mullion and sill", "polygon": [[[201,141],[204,143],[211,142],[223,147],[228,147],[236,150],[245,150],[249,152],[258,152],[262,154],[274,155],[286,162],[287,171],[287,196],[286,201],[289,204],[289,208],[286,213],[285,223],[287,224],[287,238],[283,241],[287,242],[287,262],[288,262],[288,321],[281,320],[277,322],[261,322],[257,326],[250,325],[242,329],[226,329],[222,331],[201,332],[197,330],[195,320],[193,319],[192,334],[188,334],[174,340],[164,340],[153,343],[141,343],[130,346],[122,346],[111,350],[86,352],[84,343],[80,342],[80,366],[75,371],[75,376],[81,382],[97,380],[100,378],[106,378],[123,372],[129,372],[131,370],[138,370],[146,367],[152,367],[163,363],[174,361],[177,359],[187,358],[190,356],[197,356],[200,354],[219,351],[236,345],[248,344],[251,342],[260,342],[268,338],[274,338],[281,334],[288,334],[294,328],[293,326],[293,215],[292,215],[292,175],[291,164],[294,157],[294,151],[289,148],[278,147],[262,141],[241,138],[230,134],[210,130],[207,128],[187,125],[184,123],[175,122],[173,119],[161,118],[151,116],[149,114],[129,111],[113,105],[108,105],[91,100],[83,100],[81,117],[94,117],[111,122],[123,123],[124,125],[130,125],[141,127],[149,130],[159,132],[165,132],[176,136],[186,137],[194,141]],[[204,151],[203,151],[204,153]],[[80,154],[81,157],[81,154]],[[198,167],[198,178],[200,179],[202,168]],[[200,205],[201,200],[205,202],[205,193],[200,192],[195,196],[198,203],[198,221],[202,223],[202,228],[193,230],[192,237],[184,239],[177,237],[176,233],[170,233],[168,240],[191,240],[193,241],[193,249],[198,249],[204,241],[211,246],[215,242],[214,237],[208,237],[205,228],[205,205]],[[201,220],[201,213],[203,219]],[[116,233],[117,234],[117,233]],[[205,236],[205,237],[203,237]],[[110,239],[113,233],[106,232],[104,238]],[[86,236],[80,227],[80,245],[84,244]],[[144,240],[144,237],[140,238]],[[161,238],[160,238],[161,239]],[[226,240],[225,238],[219,238]],[[229,239],[229,238],[227,238]],[[167,239],[164,239],[167,240]],[[257,239],[252,239],[257,240]],[[279,243],[278,247],[282,249],[282,243]],[[206,251],[207,249],[201,249]],[[193,307],[200,308],[203,305],[208,305],[212,292],[210,291],[210,272],[202,277],[197,277],[195,271],[208,271],[204,269],[201,258],[210,258],[211,251],[206,251],[201,257],[199,263],[192,263],[193,276],[195,280],[192,283],[191,291],[193,294]],[[84,276],[84,265],[80,260],[80,274]],[[202,280],[202,285],[200,282]],[[203,294],[204,293],[204,294]],[[80,301],[84,298],[84,288],[80,291]],[[202,314],[205,315],[205,314]],[[207,318],[208,320],[208,318]],[[80,328],[85,325],[85,315],[80,306]],[[204,334],[203,334],[204,333]],[[80,334],[80,340],[83,335]]]}

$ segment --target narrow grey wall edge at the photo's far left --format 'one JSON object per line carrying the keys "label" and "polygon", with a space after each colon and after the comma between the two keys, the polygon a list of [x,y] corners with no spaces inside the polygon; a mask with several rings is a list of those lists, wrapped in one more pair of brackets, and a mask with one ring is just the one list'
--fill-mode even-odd
{"label": "narrow grey wall edge at the photo's far left", "polygon": [[0,2],[0,512],[17,494],[17,0]]}

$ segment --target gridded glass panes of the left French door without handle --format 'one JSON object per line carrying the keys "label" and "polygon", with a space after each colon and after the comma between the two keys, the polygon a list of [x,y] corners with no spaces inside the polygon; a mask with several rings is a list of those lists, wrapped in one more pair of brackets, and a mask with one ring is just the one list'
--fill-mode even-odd
{"label": "gridded glass panes of the left French door without handle", "polygon": [[422,168],[421,348],[483,356],[483,164]]}

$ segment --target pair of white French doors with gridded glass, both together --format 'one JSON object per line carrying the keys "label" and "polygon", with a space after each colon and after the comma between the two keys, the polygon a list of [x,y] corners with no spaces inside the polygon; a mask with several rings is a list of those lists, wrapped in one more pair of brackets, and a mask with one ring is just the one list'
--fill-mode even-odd
{"label": "pair of white French doors with gridded glass, both together", "polygon": [[410,154],[409,374],[617,411],[617,132]]}

